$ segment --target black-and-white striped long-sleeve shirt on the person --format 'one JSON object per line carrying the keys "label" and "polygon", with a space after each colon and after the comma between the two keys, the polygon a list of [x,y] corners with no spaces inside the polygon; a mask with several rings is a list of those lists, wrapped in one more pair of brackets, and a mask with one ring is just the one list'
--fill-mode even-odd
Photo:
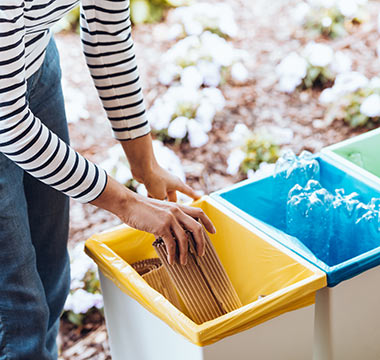
{"label": "black-and-white striped long-sleeve shirt on the person", "polygon": [[[0,1],[0,151],[37,179],[89,202],[102,193],[106,173],[42,124],[26,101],[26,80],[43,63],[51,26],[77,3]],[[115,137],[147,134],[129,1],[81,0],[80,20],[86,61]]]}

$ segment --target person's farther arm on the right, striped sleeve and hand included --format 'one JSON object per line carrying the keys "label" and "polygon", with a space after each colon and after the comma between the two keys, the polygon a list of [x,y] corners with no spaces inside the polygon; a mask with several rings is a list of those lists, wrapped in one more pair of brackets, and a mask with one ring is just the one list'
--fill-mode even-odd
{"label": "person's farther arm on the right, striped sleeve and hand included", "polygon": [[153,154],[137,69],[129,1],[82,0],[81,38],[87,65],[136,180],[150,196],[176,201],[176,191],[198,195],[162,169]]}

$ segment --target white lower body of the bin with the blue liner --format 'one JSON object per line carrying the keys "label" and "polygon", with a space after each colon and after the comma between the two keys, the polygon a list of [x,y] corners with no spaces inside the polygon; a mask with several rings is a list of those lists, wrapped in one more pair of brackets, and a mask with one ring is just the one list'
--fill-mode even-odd
{"label": "white lower body of the bin with the blue liner", "polygon": [[380,359],[380,266],[315,299],[314,360]]}

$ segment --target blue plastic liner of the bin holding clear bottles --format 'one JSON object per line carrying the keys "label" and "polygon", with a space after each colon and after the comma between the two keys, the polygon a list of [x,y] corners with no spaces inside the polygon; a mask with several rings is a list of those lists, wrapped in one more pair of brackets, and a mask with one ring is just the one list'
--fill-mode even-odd
{"label": "blue plastic liner of the bin holding clear bottles", "polygon": [[[320,183],[331,193],[335,189],[344,189],[346,194],[357,192],[360,200],[368,203],[371,198],[380,198],[380,191],[364,184],[358,179],[346,174],[341,169],[329,163],[324,155],[317,156],[320,165]],[[231,209],[250,224],[259,228],[287,248],[296,252],[306,260],[318,266],[327,274],[328,286],[332,287],[341,281],[359,275],[363,271],[380,265],[380,246],[364,246],[369,251],[357,253],[357,244],[353,244],[352,258],[339,264],[330,265],[317,258],[301,240],[285,233],[286,230],[286,202],[281,200],[280,177],[272,176],[260,180],[245,180],[232,187],[211,194],[211,196]],[[361,234],[357,234],[358,242],[365,242]]]}

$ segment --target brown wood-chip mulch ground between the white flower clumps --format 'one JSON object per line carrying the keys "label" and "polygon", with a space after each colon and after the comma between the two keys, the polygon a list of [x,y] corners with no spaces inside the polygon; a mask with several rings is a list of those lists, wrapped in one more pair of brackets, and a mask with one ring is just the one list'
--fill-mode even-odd
{"label": "brown wood-chip mulch ground between the white flower clumps", "polygon": [[[206,146],[200,149],[192,149],[188,144],[172,146],[183,160],[188,182],[205,193],[239,180],[225,172],[229,154],[228,134],[238,122],[244,122],[252,129],[266,125],[292,129],[294,138],[289,147],[297,153],[303,149],[318,152],[326,145],[368,130],[353,130],[341,121],[321,128],[318,120],[323,118],[324,109],[317,101],[320,90],[291,95],[276,90],[275,65],[309,40],[304,31],[295,27],[289,16],[292,4],[297,1],[227,2],[232,6],[241,29],[239,37],[233,41],[234,45],[250,54],[247,64],[250,80],[244,86],[225,85],[222,88],[227,106],[216,118],[213,131],[209,134],[210,142]],[[371,14],[368,23],[355,28],[343,39],[329,40],[329,44],[350,54],[354,70],[372,77],[380,73],[380,61],[376,55],[379,39],[376,17],[380,3],[372,1],[368,6]],[[167,31],[168,24],[165,22],[134,28],[136,53],[148,106],[165,91],[165,87],[158,83],[157,73],[160,55],[172,44],[165,40]],[[86,94],[83,106],[89,116],[70,124],[72,145],[89,159],[100,162],[105,158],[107,148],[116,142],[112,139],[105,113],[86,69],[80,40],[71,33],[60,34],[56,39],[61,52],[64,91],[66,94],[74,91]],[[73,202],[70,242],[83,241],[93,233],[118,223],[117,218],[103,210]],[[97,330],[94,332],[94,329]],[[62,359],[109,359],[105,328],[99,319],[91,318],[83,329],[75,329],[63,322],[61,341]],[[69,352],[71,348],[80,350],[82,355]],[[83,357],[83,353],[88,356]]]}

